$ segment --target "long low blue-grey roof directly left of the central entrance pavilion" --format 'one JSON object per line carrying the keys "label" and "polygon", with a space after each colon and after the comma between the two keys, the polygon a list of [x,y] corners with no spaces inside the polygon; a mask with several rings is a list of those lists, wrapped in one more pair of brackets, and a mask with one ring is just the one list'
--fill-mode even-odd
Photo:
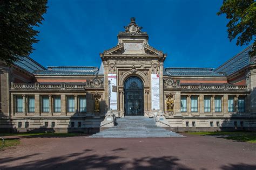
{"label": "long low blue-grey roof directly left of the central entrance pavilion", "polygon": [[95,75],[98,67],[86,66],[59,66],[48,67],[47,70],[38,71],[35,75]]}

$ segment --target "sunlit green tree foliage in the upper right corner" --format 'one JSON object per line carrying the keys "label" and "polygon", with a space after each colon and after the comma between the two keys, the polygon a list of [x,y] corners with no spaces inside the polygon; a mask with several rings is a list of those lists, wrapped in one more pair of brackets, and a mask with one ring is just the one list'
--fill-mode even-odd
{"label": "sunlit green tree foliage in the upper right corner", "polygon": [[230,21],[228,27],[228,38],[230,41],[237,37],[237,45],[248,45],[253,40],[253,51],[256,54],[256,2],[254,0],[224,0],[217,15],[226,13]]}

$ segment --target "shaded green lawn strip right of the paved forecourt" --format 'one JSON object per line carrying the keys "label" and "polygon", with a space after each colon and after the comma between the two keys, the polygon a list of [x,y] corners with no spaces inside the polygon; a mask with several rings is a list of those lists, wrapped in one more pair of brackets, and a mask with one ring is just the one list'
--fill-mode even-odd
{"label": "shaded green lawn strip right of the paved forecourt", "polygon": [[198,134],[201,136],[217,136],[224,139],[230,139],[234,141],[244,141],[248,143],[256,143],[255,132],[188,132],[188,134]]}

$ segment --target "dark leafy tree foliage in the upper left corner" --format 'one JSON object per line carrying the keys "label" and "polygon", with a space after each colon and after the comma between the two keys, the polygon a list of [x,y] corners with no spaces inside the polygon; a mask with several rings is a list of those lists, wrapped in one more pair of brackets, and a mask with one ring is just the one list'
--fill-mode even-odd
{"label": "dark leafy tree foliage in the upper left corner", "polygon": [[7,64],[32,53],[48,0],[0,1],[0,60]]}

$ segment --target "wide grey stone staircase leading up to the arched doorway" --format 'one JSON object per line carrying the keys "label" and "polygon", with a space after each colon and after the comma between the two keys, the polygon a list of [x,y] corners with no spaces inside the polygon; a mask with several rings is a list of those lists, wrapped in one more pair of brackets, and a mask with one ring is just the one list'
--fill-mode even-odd
{"label": "wide grey stone staircase leading up to the arched doorway", "polygon": [[91,138],[150,138],[184,137],[181,134],[156,126],[153,118],[125,116],[117,118],[116,126],[93,134]]}

